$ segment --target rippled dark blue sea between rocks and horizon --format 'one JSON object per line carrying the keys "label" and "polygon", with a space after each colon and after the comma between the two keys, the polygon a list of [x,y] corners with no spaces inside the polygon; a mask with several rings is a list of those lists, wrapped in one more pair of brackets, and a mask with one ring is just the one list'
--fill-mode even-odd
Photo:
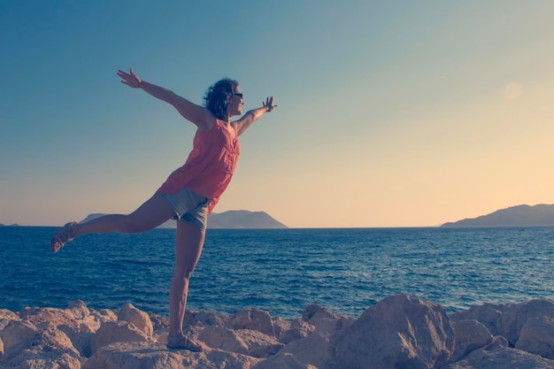
{"label": "rippled dark blue sea between rocks and horizon", "polygon": [[[168,315],[174,230],[88,234],[50,253],[58,228],[0,227],[0,309],[130,302]],[[459,311],[554,298],[554,227],[208,230],[189,309],[308,304],[357,317],[404,293]]]}

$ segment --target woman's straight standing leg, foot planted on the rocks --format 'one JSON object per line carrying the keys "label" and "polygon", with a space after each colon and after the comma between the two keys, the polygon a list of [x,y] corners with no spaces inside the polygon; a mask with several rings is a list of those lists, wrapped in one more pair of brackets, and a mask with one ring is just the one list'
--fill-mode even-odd
{"label": "woman's straight standing leg, foot planted on the rocks", "polygon": [[[169,337],[168,347],[202,350],[196,342],[184,338],[183,319],[189,295],[189,279],[194,271],[204,246],[205,231],[178,220],[175,237],[175,271],[169,293]],[[172,344],[173,340],[173,344]],[[180,340],[179,344],[177,340]]]}

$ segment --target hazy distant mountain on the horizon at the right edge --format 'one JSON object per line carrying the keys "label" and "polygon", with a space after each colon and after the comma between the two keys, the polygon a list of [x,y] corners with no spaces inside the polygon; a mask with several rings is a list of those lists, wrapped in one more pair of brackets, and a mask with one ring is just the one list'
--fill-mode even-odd
{"label": "hazy distant mountain on the horizon at the right edge", "polygon": [[444,223],[441,227],[554,226],[554,204],[517,205],[473,219]]}

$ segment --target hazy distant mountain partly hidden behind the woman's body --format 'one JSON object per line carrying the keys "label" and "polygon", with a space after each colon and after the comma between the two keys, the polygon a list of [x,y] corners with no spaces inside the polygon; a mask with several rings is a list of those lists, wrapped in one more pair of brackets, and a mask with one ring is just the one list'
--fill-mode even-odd
{"label": "hazy distant mountain partly hidden behind the woman's body", "polygon": [[[87,218],[82,219],[81,223],[87,222],[103,216],[103,213],[88,214]],[[158,228],[175,228],[174,220],[167,220]],[[220,213],[212,212],[208,217],[208,228],[288,228],[280,221],[273,219],[265,211],[224,211]]]}

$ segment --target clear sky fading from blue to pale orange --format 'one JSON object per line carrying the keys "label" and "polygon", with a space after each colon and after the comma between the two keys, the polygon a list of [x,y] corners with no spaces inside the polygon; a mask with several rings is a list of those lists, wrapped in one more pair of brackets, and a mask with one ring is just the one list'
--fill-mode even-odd
{"label": "clear sky fading from blue to pale orange", "polygon": [[216,207],[289,227],[427,227],[554,204],[554,2],[0,0],[0,223],[128,213],[195,127],[119,68],[202,104],[241,84]]}

